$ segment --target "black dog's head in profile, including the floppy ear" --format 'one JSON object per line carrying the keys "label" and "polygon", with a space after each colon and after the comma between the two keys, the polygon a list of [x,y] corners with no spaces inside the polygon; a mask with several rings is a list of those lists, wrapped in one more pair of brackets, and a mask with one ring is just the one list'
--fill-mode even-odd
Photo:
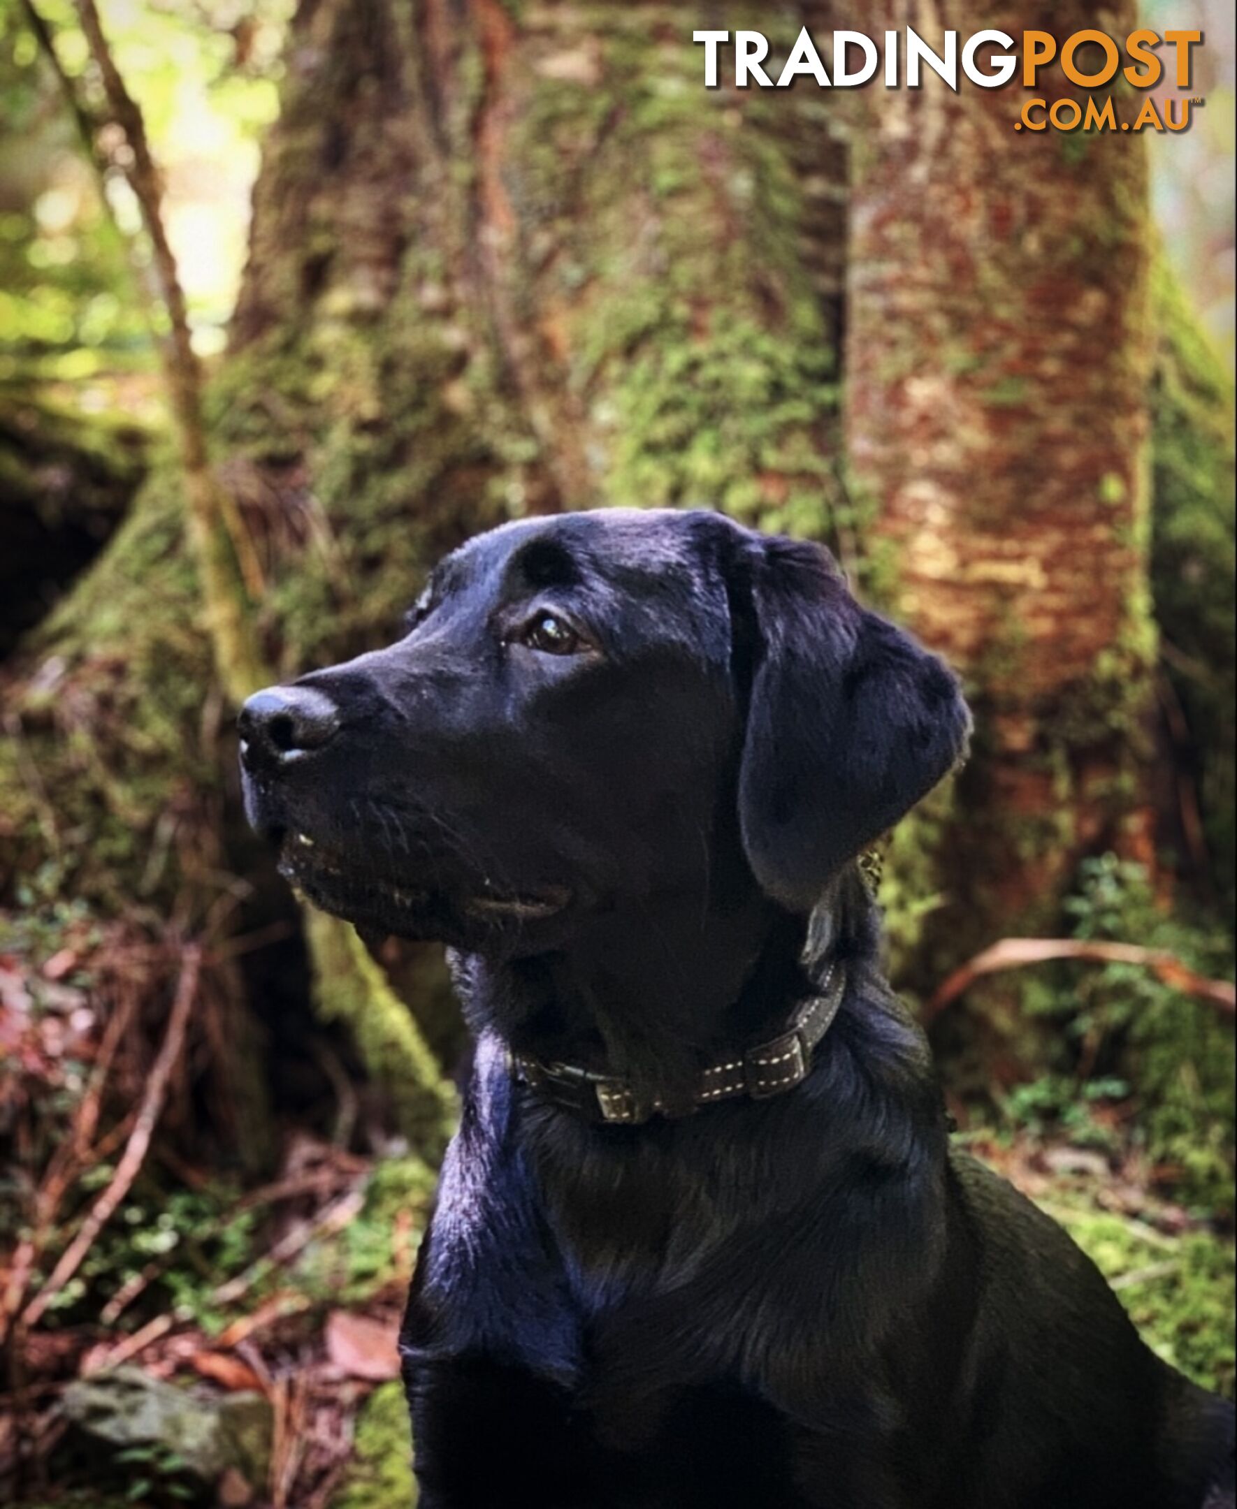
{"label": "black dog's head in profile, including the floppy ear", "polygon": [[402,640],[240,715],[249,819],[311,901],[509,951],[710,896],[726,845],[748,884],[808,911],[967,732],[955,676],[823,549],[640,510],[471,540]]}

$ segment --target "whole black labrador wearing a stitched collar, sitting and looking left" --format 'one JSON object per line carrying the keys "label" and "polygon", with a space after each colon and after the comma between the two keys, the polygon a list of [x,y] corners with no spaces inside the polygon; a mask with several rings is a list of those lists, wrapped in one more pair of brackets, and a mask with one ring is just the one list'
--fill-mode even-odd
{"label": "whole black labrador wearing a stitched collar, sitting and looking left", "polygon": [[509,524],[240,730],[285,875],[452,945],[476,1035],[402,1335],[421,1509],[1232,1503],[1231,1409],[950,1151],[856,857],[968,714],[825,551]]}

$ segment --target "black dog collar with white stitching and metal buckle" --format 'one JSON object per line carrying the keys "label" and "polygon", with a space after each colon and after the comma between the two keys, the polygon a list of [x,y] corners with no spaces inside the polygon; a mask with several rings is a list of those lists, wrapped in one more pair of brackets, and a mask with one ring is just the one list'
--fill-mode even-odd
{"label": "black dog collar with white stitching and metal buckle", "polygon": [[[781,1037],[757,1043],[704,1070],[693,1091],[692,1111],[714,1100],[749,1096],[767,1100],[802,1083],[811,1068],[813,1053],[838,1014],[846,988],[846,970],[829,964],[820,994],[799,1005],[790,1028]],[[657,1097],[642,1097],[619,1074],[598,1074],[578,1064],[544,1062],[532,1053],[507,1050],[507,1070],[518,1083],[589,1121],[639,1126],[654,1115],[674,1115]]]}

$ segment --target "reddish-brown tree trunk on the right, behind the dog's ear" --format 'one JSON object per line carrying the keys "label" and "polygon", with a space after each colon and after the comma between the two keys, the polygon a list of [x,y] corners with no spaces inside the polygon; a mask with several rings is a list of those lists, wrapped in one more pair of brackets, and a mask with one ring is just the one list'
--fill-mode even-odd
{"label": "reddish-brown tree trunk on the right, behind the dog's ear", "polygon": [[[871,29],[938,50],[945,27],[1097,24],[1083,5],[879,11]],[[1103,24],[1125,35],[1133,3]],[[1035,94],[1086,103],[1056,65]],[[955,949],[1050,922],[1087,851],[1149,857],[1146,160],[1121,131],[1015,130],[1024,98],[927,74],[870,100],[853,154],[849,457],[896,611],[979,715],[944,845]]]}

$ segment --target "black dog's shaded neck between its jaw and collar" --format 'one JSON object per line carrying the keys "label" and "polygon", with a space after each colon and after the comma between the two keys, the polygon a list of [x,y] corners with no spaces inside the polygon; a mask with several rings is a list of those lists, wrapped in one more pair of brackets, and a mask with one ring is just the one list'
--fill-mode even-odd
{"label": "black dog's shaded neck between its jaw and collar", "polygon": [[511,1047],[619,1074],[640,1089],[687,1094],[719,1055],[782,1029],[826,957],[873,931],[858,875],[840,880],[808,922],[754,884],[725,901],[662,895],[586,919],[551,954],[468,960],[474,1028]]}

